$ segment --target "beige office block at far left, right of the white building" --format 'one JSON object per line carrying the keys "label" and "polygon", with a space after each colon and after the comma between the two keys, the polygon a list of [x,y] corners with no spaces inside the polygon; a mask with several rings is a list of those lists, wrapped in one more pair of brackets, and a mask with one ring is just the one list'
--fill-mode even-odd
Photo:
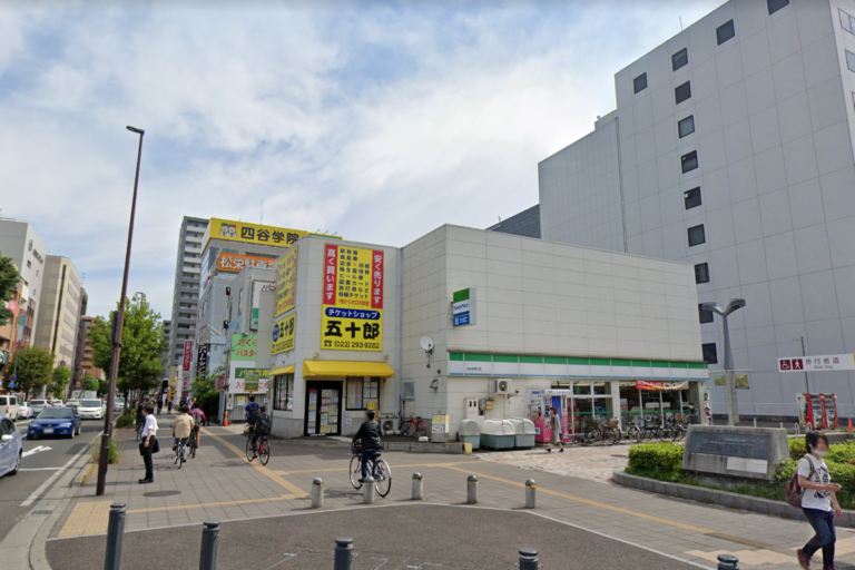
{"label": "beige office block at far left, right of the white building", "polygon": [[33,344],[53,353],[53,367],[75,370],[81,292],[80,274],[71,259],[48,255]]}

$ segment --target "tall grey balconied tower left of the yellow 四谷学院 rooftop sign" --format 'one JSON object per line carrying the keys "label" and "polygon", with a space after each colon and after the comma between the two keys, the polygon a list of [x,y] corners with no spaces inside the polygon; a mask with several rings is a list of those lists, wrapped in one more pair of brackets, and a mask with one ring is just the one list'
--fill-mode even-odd
{"label": "tall grey balconied tower left of the yellow \u56db\u8c37\u5b66\u9662 rooftop sign", "polygon": [[207,219],[185,216],[178,232],[168,367],[179,366],[180,370],[184,357],[184,343],[196,337],[196,313],[199,303],[199,274],[202,272],[202,239],[207,227]]}

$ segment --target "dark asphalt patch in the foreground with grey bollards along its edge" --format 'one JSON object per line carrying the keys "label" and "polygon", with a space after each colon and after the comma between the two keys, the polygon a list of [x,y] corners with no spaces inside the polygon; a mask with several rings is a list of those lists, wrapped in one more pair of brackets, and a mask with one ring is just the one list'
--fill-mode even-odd
{"label": "dark asphalt patch in the foreground with grey bollards along its edge", "polygon": [[[218,570],[330,570],[335,539],[354,539],[354,570],[519,568],[535,548],[544,570],[689,570],[697,567],[525,511],[428,504],[311,512],[223,523]],[[50,540],[53,570],[100,564],[106,535]],[[124,570],[199,566],[202,525],[125,534]],[[97,554],[96,554],[97,553]]]}

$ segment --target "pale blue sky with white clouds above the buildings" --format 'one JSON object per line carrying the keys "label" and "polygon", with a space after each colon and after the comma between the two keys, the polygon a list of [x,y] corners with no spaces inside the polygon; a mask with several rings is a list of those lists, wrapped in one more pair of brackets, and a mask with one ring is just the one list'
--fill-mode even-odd
{"label": "pale blue sky with white clouds above the buildings", "polygon": [[[403,246],[538,203],[613,75],[720,0],[0,2],[0,216],[168,318],[185,215]],[[680,22],[681,19],[681,22]]]}

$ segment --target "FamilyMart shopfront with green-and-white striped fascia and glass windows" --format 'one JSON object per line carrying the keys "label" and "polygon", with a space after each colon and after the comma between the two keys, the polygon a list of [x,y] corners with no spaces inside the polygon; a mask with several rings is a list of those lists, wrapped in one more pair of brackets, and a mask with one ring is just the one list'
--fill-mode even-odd
{"label": "FamilyMart shopfront with green-and-white striped fascia and glass windows", "polygon": [[701,410],[708,374],[702,362],[450,352],[449,376],[518,379],[534,424],[554,406],[572,435],[591,417],[626,425],[642,414],[679,420],[690,402]]}

